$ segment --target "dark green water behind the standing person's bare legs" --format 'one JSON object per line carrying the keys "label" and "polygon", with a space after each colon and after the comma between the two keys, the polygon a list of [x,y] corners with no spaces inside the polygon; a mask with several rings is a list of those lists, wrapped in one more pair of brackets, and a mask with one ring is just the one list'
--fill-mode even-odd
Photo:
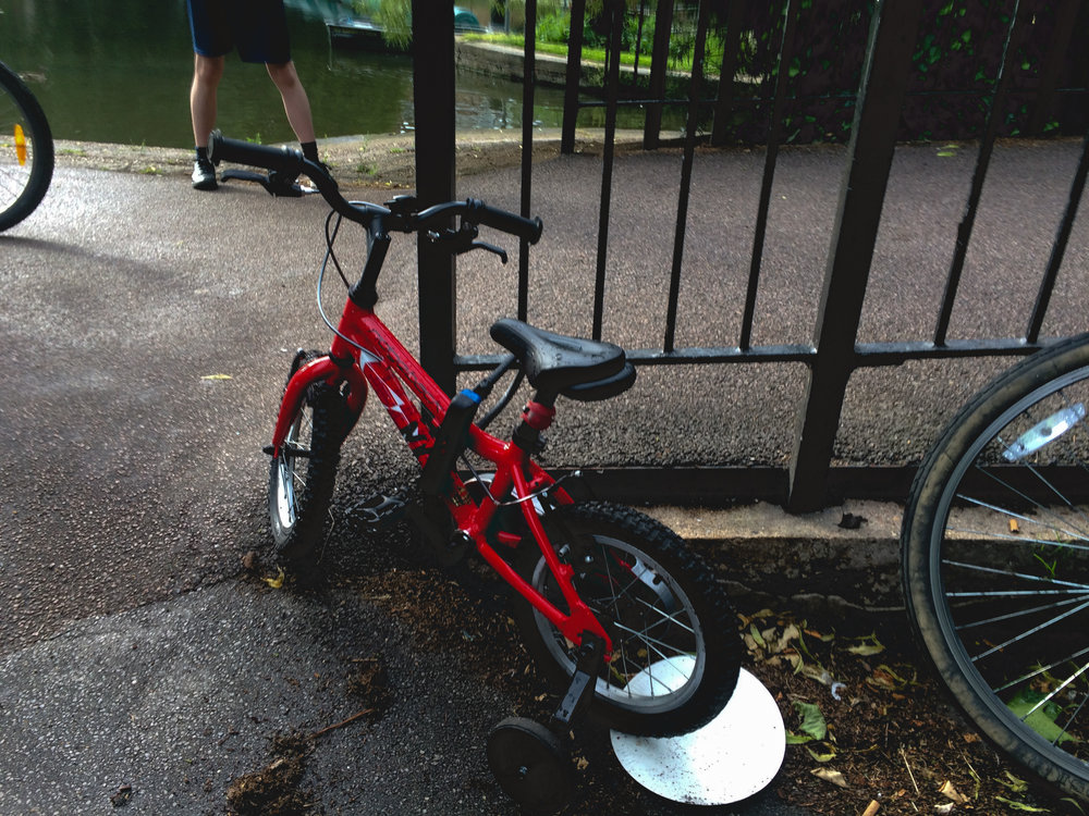
{"label": "dark green water behind the standing person's bare legs", "polygon": [[[325,20],[343,13],[339,0],[286,4],[292,57],[318,137],[411,129],[411,59],[330,48]],[[463,4],[487,24],[487,0]],[[56,138],[193,144],[185,0],[0,0],[0,60],[27,79]],[[519,84],[469,72],[458,72],[455,84],[458,128],[522,127]],[[558,126],[561,91],[538,88],[536,101],[535,121]],[[235,54],[220,85],[218,126],[236,138],[293,138],[264,67]]]}

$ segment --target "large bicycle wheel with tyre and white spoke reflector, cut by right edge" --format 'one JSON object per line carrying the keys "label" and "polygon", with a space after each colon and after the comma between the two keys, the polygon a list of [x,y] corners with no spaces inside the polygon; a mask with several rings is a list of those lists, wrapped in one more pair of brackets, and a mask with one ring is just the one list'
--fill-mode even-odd
{"label": "large bicycle wheel with tyre and white spoke reflector, cut by right edge", "polygon": [[930,452],[904,515],[908,611],[979,729],[1089,798],[1089,335],[992,382]]}

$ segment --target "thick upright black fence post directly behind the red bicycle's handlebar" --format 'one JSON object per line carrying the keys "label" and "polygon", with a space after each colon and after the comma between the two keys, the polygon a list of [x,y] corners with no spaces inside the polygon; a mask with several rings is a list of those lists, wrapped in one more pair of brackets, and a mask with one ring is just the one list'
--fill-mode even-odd
{"label": "thick upright black fence post directly behind the red bicycle's handlebar", "polygon": [[[454,3],[413,0],[413,109],[416,119],[416,195],[424,207],[453,200]],[[426,59],[420,59],[426,54]],[[453,256],[419,235],[419,360],[448,394],[454,393],[456,277]]]}

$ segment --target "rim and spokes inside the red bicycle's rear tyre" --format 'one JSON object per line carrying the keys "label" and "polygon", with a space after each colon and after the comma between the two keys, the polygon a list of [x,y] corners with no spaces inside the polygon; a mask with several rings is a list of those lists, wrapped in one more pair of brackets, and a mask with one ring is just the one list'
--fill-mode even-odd
{"label": "rim and spokes inside the red bicycle's rear tyre", "polygon": [[[575,589],[613,641],[597,695],[646,714],[682,705],[699,687],[706,662],[702,629],[688,596],[653,558],[624,541],[587,536],[575,560]],[[543,557],[534,570],[534,586],[565,608]],[[574,673],[573,646],[539,611],[534,618],[549,654]],[[656,664],[664,667],[668,682],[654,678]],[[640,672],[645,685],[629,685]]]}

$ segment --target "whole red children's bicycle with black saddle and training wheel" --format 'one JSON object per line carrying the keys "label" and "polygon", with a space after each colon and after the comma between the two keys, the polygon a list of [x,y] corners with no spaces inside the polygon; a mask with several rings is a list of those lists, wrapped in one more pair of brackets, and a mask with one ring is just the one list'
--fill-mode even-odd
{"label": "whole red children's bicycle with black saddle and training wheel", "polygon": [[[711,570],[668,528],[611,504],[576,504],[533,460],[560,396],[607,399],[635,381],[624,350],[499,320],[492,338],[510,354],[475,387],[449,397],[375,313],[377,284],[393,233],[423,232],[451,252],[485,248],[478,225],[536,243],[539,219],[476,201],[420,209],[401,196],[386,206],[347,201],[328,171],[286,148],[213,134],[216,160],[256,165],[294,178],[306,174],[332,208],[327,255],[347,220],[367,232],[367,258],[327,354],[299,351],[291,367],[272,443],[269,511],[277,555],[296,573],[317,569],[323,552],[340,450],[367,401],[386,407],[423,466],[415,518],[436,558],[476,552],[516,592],[519,631],[538,666],[567,684],[549,728],[501,722],[489,763],[514,799],[562,803],[570,763],[561,749],[573,719],[588,707],[605,725],[665,737],[710,721],[726,704],[742,657],[736,620]],[[453,225],[455,224],[455,225]],[[343,272],[341,273],[343,277]],[[320,308],[319,284],[319,308]],[[505,395],[478,409],[507,372]],[[522,381],[534,391],[509,440],[487,432]],[[375,518],[402,509],[382,497]]]}

